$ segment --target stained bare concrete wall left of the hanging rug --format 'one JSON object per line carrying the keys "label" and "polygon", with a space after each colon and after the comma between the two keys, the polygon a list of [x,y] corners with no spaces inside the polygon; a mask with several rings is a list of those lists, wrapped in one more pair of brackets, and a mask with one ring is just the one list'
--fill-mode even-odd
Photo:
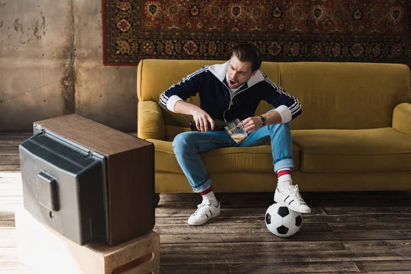
{"label": "stained bare concrete wall left of the hanging rug", "polygon": [[0,0],[0,131],[77,113],[136,132],[136,66],[103,66],[101,0]]}

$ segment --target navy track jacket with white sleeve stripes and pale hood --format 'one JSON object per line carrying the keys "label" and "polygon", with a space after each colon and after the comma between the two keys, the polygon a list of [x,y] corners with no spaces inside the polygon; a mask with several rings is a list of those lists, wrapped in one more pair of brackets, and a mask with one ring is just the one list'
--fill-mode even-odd
{"label": "navy track jacket with white sleeve stripes and pale hood", "polygon": [[276,86],[261,71],[257,71],[256,75],[252,76],[232,96],[225,77],[228,64],[229,62],[204,66],[202,69],[187,75],[181,82],[162,92],[160,95],[161,105],[174,111],[176,99],[181,98],[186,101],[189,97],[199,93],[200,108],[206,111],[212,119],[226,122],[236,118],[242,121],[254,116],[261,100],[267,101],[274,108],[281,106],[282,112],[280,114],[282,114],[283,123],[288,123],[301,114],[301,105],[298,99]]}

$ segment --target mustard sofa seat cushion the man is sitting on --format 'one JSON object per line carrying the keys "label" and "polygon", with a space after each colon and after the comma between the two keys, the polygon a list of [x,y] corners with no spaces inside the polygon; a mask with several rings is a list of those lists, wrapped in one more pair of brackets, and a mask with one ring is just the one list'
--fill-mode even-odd
{"label": "mustard sofa seat cushion the man is sitting on", "polygon": [[[183,173],[173,151],[173,142],[147,139],[155,147],[155,171]],[[295,169],[298,169],[298,147],[292,147]],[[209,173],[218,172],[273,172],[273,155],[270,145],[258,147],[227,147],[201,153]]]}

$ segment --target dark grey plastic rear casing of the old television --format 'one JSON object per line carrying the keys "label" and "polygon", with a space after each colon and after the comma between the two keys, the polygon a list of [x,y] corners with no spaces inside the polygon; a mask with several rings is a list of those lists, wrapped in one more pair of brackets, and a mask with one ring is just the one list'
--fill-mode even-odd
{"label": "dark grey plastic rear casing of the old television", "polygon": [[27,211],[79,245],[107,237],[102,155],[38,127],[19,152]]}

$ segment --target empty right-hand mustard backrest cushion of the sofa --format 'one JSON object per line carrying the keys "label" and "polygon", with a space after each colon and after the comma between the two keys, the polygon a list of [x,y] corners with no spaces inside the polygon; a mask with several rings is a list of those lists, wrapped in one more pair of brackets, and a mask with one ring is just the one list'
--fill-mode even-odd
{"label": "empty right-hand mustard backrest cushion of the sofa", "polygon": [[299,99],[292,129],[390,127],[395,105],[411,98],[404,64],[280,63],[280,85]]}

